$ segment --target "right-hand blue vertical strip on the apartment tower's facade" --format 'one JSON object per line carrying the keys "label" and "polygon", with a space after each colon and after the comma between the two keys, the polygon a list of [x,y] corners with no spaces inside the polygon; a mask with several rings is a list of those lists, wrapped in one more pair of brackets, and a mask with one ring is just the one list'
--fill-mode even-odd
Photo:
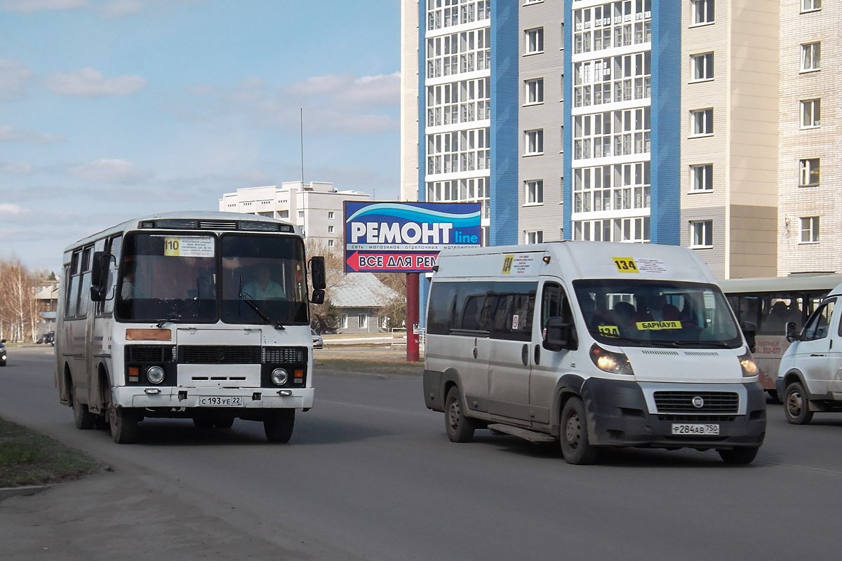
{"label": "right-hand blue vertical strip on the apartment tower's facade", "polygon": [[652,3],[652,243],[678,246],[681,221],[681,6]]}

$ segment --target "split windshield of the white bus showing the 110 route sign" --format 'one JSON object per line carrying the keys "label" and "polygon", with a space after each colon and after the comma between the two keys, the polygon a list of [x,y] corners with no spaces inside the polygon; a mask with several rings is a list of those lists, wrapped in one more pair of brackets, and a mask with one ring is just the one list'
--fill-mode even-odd
{"label": "split windshield of the white bus showing the 110 route sign", "polygon": [[267,323],[251,299],[281,325],[306,324],[304,268],[304,244],[294,236],[132,232],[115,311],[127,321]]}

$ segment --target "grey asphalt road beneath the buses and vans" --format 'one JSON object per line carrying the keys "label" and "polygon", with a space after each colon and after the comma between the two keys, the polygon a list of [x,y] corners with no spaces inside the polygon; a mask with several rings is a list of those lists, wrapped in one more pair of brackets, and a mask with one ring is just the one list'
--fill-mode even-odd
{"label": "grey asphalt road beneath the buses and vans", "polygon": [[[317,372],[316,405],[296,417],[289,444],[265,442],[254,422],[201,433],[191,421],[148,420],[141,442],[120,446],[107,431],[74,428],[52,370],[51,349],[12,349],[0,415],[114,472],[0,503],[12,558],[42,557],[27,554],[37,540],[72,544],[55,558],[115,558],[111,541],[121,540],[141,548],[126,558],[181,548],[179,558],[372,560],[810,559],[835,558],[842,545],[842,415],[790,426],[770,404],[749,466],[685,450],[610,451],[599,465],[571,466],[556,446],[488,431],[449,442],[419,377]],[[103,511],[124,522],[134,512],[138,523],[109,533]],[[105,528],[96,547],[61,537],[74,512]],[[49,530],[32,527],[39,517]],[[14,521],[29,527],[3,534]]]}

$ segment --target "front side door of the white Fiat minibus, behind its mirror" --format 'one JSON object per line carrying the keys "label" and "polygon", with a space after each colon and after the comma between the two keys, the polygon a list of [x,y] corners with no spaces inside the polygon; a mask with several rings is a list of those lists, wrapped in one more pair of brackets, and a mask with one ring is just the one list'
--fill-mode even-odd
{"label": "front side door of the white Fiat minibus, behind its mirror", "polygon": [[561,283],[543,281],[539,286],[539,294],[539,311],[535,314],[530,342],[530,418],[532,426],[548,427],[552,421],[552,404],[558,378],[570,372],[573,353],[568,350],[547,351],[542,347],[544,324],[547,318],[557,315],[567,316],[573,321],[573,314]]}

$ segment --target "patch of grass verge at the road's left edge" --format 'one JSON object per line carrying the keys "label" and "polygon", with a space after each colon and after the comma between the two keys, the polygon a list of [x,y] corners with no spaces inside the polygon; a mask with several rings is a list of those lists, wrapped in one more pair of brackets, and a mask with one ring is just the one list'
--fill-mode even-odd
{"label": "patch of grass verge at the road's left edge", "polygon": [[96,467],[93,458],[0,417],[0,488],[61,483]]}

